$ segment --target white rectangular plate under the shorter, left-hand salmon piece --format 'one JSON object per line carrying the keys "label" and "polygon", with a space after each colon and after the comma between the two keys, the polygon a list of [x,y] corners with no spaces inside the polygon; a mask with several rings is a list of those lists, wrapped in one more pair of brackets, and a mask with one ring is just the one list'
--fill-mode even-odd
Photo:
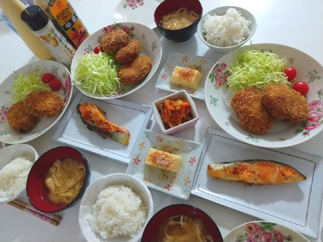
{"label": "white rectangular plate under the shorter, left-hand salmon piece", "polygon": [[[107,113],[107,120],[127,129],[130,133],[129,144],[124,146],[111,139],[103,139],[88,130],[76,112],[76,106],[83,102],[98,105]],[[97,100],[78,92],[59,124],[53,139],[128,164],[140,131],[147,127],[151,116],[151,106],[117,99]]]}

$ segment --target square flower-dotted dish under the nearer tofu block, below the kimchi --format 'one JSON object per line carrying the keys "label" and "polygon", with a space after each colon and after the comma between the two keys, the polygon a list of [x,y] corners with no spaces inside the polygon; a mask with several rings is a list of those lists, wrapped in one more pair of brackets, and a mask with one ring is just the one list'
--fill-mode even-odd
{"label": "square flower-dotted dish under the nearer tofu block, below the kimchi", "polygon": [[[180,155],[182,163],[179,172],[176,174],[146,166],[145,161],[150,148]],[[194,174],[202,148],[201,143],[143,129],[125,173],[144,182],[147,187],[187,200],[191,194]]]}

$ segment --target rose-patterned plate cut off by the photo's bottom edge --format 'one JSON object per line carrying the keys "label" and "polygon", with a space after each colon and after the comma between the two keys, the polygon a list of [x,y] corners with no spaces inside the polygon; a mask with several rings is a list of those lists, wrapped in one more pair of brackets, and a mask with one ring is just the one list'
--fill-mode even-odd
{"label": "rose-patterned plate cut off by the photo's bottom edge", "polygon": [[310,242],[307,238],[284,225],[267,221],[242,224],[229,232],[224,242]]}

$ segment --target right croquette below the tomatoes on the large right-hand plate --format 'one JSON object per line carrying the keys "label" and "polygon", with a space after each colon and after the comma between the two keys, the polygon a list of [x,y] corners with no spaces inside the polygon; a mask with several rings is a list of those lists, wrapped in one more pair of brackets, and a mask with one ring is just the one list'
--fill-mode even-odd
{"label": "right croquette below the tomatoes on the large right-hand plate", "polygon": [[262,102],[277,119],[289,124],[300,124],[309,116],[306,98],[286,85],[271,83],[263,90]]}

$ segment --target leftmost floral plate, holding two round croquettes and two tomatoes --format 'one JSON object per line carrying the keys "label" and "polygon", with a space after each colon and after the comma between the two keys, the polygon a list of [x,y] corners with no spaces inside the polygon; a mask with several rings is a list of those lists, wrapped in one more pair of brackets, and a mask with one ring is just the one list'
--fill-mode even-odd
{"label": "leftmost floral plate, holding two round croquettes and two tomatoes", "polygon": [[[17,75],[36,72],[37,70],[42,70],[40,73],[41,75],[44,73],[52,73],[61,81],[61,89],[55,92],[63,99],[64,109],[54,117],[40,118],[35,128],[29,133],[17,133],[9,126],[6,117],[9,107],[13,104],[12,96],[14,89],[12,88],[12,84],[15,82]],[[51,60],[42,60],[30,63],[19,68],[8,76],[0,84],[0,142],[4,142],[6,144],[21,144],[44,134],[48,129],[56,124],[65,113],[72,96],[73,87],[71,84],[72,80],[68,69],[62,64]]]}

